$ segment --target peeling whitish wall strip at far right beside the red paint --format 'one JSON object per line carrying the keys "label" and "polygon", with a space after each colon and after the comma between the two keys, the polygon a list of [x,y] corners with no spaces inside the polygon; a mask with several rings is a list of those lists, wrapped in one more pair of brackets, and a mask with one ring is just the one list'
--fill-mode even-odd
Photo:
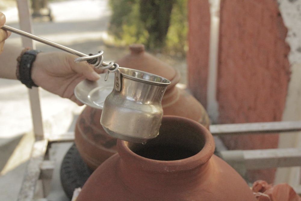
{"label": "peeling whitish wall strip at far right beside the red paint", "polygon": [[[301,0],[278,0],[279,9],[288,29],[286,41],[290,46],[288,56],[291,77],[283,121],[301,121]],[[301,147],[301,133],[282,133],[279,148]],[[300,168],[278,168],[275,184],[288,183],[300,188]]]}

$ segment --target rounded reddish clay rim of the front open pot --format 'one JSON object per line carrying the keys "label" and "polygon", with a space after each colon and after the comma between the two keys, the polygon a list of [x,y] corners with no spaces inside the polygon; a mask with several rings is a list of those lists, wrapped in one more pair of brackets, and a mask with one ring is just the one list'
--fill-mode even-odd
{"label": "rounded reddish clay rim of the front open pot", "polygon": [[141,164],[140,166],[142,166],[144,170],[155,172],[188,171],[205,164],[211,158],[215,150],[215,143],[212,134],[206,127],[189,118],[173,115],[163,115],[162,121],[184,121],[185,123],[190,124],[193,129],[199,130],[200,133],[202,133],[205,141],[203,148],[197,154],[185,159],[160,161],[137,155],[127,146],[129,142],[117,140],[117,150],[123,149],[123,151],[119,152],[119,155],[122,155],[125,160],[128,160],[128,162],[132,164]]}

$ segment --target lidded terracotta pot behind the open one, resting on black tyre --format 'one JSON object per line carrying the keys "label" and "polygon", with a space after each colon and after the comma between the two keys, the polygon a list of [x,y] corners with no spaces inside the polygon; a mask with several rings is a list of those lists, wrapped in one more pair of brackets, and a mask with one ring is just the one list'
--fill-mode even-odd
{"label": "lidded terracotta pot behind the open one, resting on black tyre", "polygon": [[[171,81],[161,102],[163,115],[190,118],[209,128],[209,117],[203,105],[191,94],[176,86],[180,80],[178,71],[145,52],[142,44],[134,44],[130,46],[130,50],[129,55],[116,61],[119,66],[156,74]],[[101,112],[101,109],[86,106],[79,115],[75,128],[76,147],[92,170],[116,153],[116,139],[110,137],[100,124]]]}

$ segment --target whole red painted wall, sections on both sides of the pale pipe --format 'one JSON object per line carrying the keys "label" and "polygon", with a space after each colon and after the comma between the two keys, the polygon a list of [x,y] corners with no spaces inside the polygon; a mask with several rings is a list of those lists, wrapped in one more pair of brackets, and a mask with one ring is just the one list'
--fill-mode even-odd
{"label": "whole red painted wall, sections on both sides of the pale pipe", "polygon": [[[202,30],[207,27],[207,21],[203,22],[203,19],[194,22],[194,18],[199,19],[204,15],[197,10],[208,9],[206,2],[189,1],[189,23],[193,25],[189,32],[188,74],[189,79],[192,79],[189,80],[189,86],[203,105],[206,105],[204,97],[208,48],[200,51],[203,48],[200,45],[204,45],[204,40],[209,40],[209,37]],[[205,12],[206,15],[208,12]],[[195,23],[199,23],[198,26]],[[196,33],[199,33],[198,37],[202,41],[198,44],[194,36]],[[219,34],[219,123],[281,121],[290,78],[287,59],[290,49],[285,43],[287,28],[277,2],[221,0]],[[223,137],[222,140],[229,149],[267,149],[278,146],[278,134],[233,135]],[[264,179],[273,182],[274,171],[248,171],[248,176],[251,181]]]}

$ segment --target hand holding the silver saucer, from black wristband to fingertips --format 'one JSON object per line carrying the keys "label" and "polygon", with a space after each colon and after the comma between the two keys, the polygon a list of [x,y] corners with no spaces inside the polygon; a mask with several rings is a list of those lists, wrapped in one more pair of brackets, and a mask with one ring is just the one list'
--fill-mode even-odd
{"label": "hand holding the silver saucer, from black wristband to fingertips", "polygon": [[85,61],[76,63],[73,61],[76,57],[67,52],[40,52],[32,66],[33,82],[51,93],[83,105],[74,95],[76,85],[85,78],[98,80],[99,73],[104,70],[96,69]]}

